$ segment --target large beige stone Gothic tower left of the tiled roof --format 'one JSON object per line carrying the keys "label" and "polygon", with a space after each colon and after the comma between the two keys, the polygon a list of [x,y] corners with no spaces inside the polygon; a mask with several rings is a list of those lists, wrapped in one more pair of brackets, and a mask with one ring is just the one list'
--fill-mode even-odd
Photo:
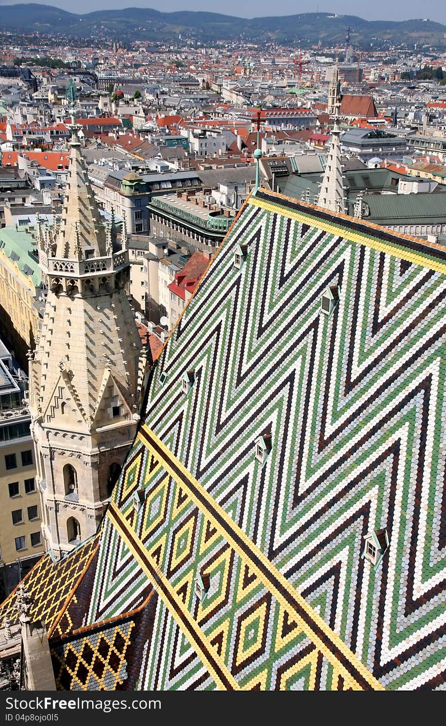
{"label": "large beige stone Gothic tower left of the tiled roof", "polygon": [[48,287],[30,358],[31,431],[46,548],[94,534],[136,435],[149,365],[126,295],[128,251],[106,229],[76,130],[62,220],[39,225]]}

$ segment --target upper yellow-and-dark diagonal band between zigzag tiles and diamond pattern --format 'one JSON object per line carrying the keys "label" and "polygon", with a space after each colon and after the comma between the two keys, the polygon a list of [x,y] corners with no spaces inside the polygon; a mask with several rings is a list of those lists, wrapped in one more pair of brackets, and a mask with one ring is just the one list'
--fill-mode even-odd
{"label": "upper yellow-and-dark diagonal band between zigzag tiles and diamond pattern", "polygon": [[[149,441],[147,441],[146,437],[144,436],[144,433],[146,432],[147,436],[151,438],[154,441],[154,444],[156,444],[157,449],[152,446]],[[352,653],[350,648],[347,648],[347,645],[341,640],[341,638],[336,635],[336,633],[331,630],[331,628],[326,624],[326,622],[321,618],[321,616],[316,613],[313,608],[308,605],[306,600],[302,597],[302,595],[297,592],[297,590],[292,586],[291,583],[288,582],[286,577],[281,574],[281,572],[273,566],[273,563],[271,563],[271,560],[268,560],[268,558],[263,554],[261,550],[255,545],[254,542],[252,542],[249,537],[247,537],[247,534],[244,533],[244,531],[236,525],[234,520],[231,518],[228,513],[223,510],[220,505],[211,497],[211,495],[206,491],[206,489],[199,484],[199,481],[197,481],[194,476],[191,475],[189,470],[186,469],[185,466],[179,461],[172,452],[168,449],[165,444],[162,443],[160,439],[156,436],[156,434],[146,425],[143,425],[141,427],[141,430],[138,434],[138,439],[141,441],[141,443],[146,446],[146,448],[154,454],[154,456],[157,456],[162,460],[162,465],[165,467],[165,470],[170,473],[170,476],[177,482],[177,484],[181,484],[181,486],[185,487],[187,489],[187,492],[189,494],[189,497],[191,497],[192,501],[199,507],[199,510],[205,513],[205,515],[212,521],[213,526],[216,526],[218,528],[218,531],[220,531],[220,534],[224,539],[226,539],[226,542],[228,544],[231,544],[231,547],[234,548],[234,550],[237,552],[237,554],[241,557],[241,559],[249,565],[249,568],[252,571],[255,571],[257,574],[257,577],[260,579],[260,581],[264,584],[266,589],[271,592],[271,594],[276,597],[279,603],[281,605],[284,605],[286,609],[289,609],[290,604],[289,600],[286,600],[286,598],[282,595],[281,590],[278,589],[278,587],[272,582],[272,580],[276,580],[278,583],[278,586],[286,590],[289,595],[292,596],[292,600],[294,601],[295,605],[297,606],[298,610],[305,611],[308,616],[310,616],[310,619],[315,624],[315,629],[319,629],[323,632],[323,638],[326,642],[324,642],[323,638],[320,637],[316,632],[315,629],[312,629],[307,622],[302,619],[302,616],[299,615],[298,612],[294,611],[293,616],[296,616],[297,622],[300,626],[300,628],[305,632],[307,637],[310,638],[312,643],[321,650],[321,653],[326,657],[326,659],[339,671],[340,674],[342,674],[342,677],[344,677],[344,680],[346,681],[346,687],[352,688],[354,690],[361,690],[361,686],[358,683],[357,680],[352,676],[349,670],[344,666],[342,661],[339,659],[341,656],[336,656],[336,653],[333,653],[333,651],[326,645],[326,643],[330,643],[333,645],[334,650],[337,650],[340,654],[342,654],[342,658],[348,663],[351,664],[352,669],[360,673],[360,676],[363,678],[364,682],[366,682],[372,690],[385,690],[384,686],[381,685],[381,683],[376,680],[375,677],[371,674],[371,672],[368,671],[366,666],[361,663],[359,658],[355,656],[355,653]],[[160,455],[161,452],[161,455]],[[181,473],[183,474],[184,478],[179,479],[178,474],[176,473],[176,470],[179,469]],[[190,482],[191,486],[187,486],[187,482]],[[199,490],[199,497],[197,494],[195,494],[195,490]],[[206,504],[203,504],[203,499],[205,499]],[[223,529],[220,526],[220,521],[215,518],[215,514],[218,515],[218,518],[223,519],[223,521],[226,523],[225,528]],[[239,545],[238,539],[241,539],[242,542],[246,545],[245,548],[241,547]],[[249,551],[252,553],[253,557],[257,558],[257,560],[260,560],[260,562],[263,565],[263,568],[265,568],[268,573],[271,573],[272,578],[270,579],[268,576],[265,576],[265,573],[263,569],[257,566],[254,559],[248,558],[246,552]]]}

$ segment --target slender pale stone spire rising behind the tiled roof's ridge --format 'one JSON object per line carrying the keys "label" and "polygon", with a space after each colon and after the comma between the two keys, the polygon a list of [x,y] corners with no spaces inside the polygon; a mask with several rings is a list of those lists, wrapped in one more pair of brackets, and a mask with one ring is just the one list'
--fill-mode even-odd
{"label": "slender pale stone spire rising behind the tiled roof's ridge", "polygon": [[[337,65],[334,66],[332,75],[336,80],[336,100],[334,102],[334,126],[331,131],[331,144],[325,172],[323,174],[321,192],[319,192],[318,206],[329,209],[333,212],[346,211],[344,183],[342,179],[342,159],[341,159],[341,142],[339,136],[341,129],[339,128],[339,107],[341,105],[341,91],[339,87],[339,73]],[[330,92],[332,83],[330,83]]]}

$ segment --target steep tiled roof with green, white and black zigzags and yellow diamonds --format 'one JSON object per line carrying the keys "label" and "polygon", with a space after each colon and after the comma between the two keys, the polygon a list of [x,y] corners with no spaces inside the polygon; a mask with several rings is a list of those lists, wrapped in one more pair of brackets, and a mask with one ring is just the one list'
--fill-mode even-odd
{"label": "steep tiled roof with green, white and black zigzags and yellow diamonds", "polygon": [[249,197],[157,359],[59,688],[444,688],[445,292],[441,245]]}

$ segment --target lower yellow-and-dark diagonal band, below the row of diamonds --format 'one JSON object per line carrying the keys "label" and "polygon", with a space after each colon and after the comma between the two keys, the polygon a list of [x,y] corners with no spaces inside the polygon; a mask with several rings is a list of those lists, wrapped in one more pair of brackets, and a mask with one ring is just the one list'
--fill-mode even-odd
{"label": "lower yellow-and-dark diagonal band, below the row of diamonds", "polygon": [[[110,510],[112,511],[110,512]],[[128,522],[125,520],[123,514],[112,502],[110,502],[107,509],[107,517],[110,518],[112,525],[118,531],[120,537],[123,538],[127,547],[131,550],[131,552],[133,552],[133,557],[138,561],[139,566],[141,566],[142,570],[151,582],[154,581],[154,574],[156,574],[157,594],[165,604],[166,608],[168,608],[168,611],[173,616],[173,619],[178,624],[178,627],[181,628],[181,631],[186,636],[186,639],[189,641],[192,648],[194,648],[197,656],[202,661],[202,664],[207,667],[218,688],[220,690],[228,690],[228,686],[222,680],[220,673],[217,669],[215,669],[212,661],[207,656],[207,653],[203,650],[202,644],[204,644],[207,650],[209,650],[212,654],[213,660],[218,664],[220,672],[226,677],[227,682],[230,684],[230,688],[233,690],[240,690],[240,686],[236,682],[234,676],[228,671],[226,664],[215,652],[215,648],[210,644],[209,640],[207,640],[207,637],[202,632],[202,629],[197,625],[196,621],[194,621],[194,618],[191,616],[189,611],[183,606],[181,597],[179,597],[175,590],[173,590],[173,587],[168,581],[168,578],[162,572],[162,569],[154,560],[150,560],[150,564],[147,564],[147,560],[149,560],[148,552],[146,559],[141,557],[141,553],[138,548],[135,547],[134,540],[138,542],[141,550],[145,551],[144,544],[141,542],[139,537],[136,536],[133,530],[129,528]]]}

